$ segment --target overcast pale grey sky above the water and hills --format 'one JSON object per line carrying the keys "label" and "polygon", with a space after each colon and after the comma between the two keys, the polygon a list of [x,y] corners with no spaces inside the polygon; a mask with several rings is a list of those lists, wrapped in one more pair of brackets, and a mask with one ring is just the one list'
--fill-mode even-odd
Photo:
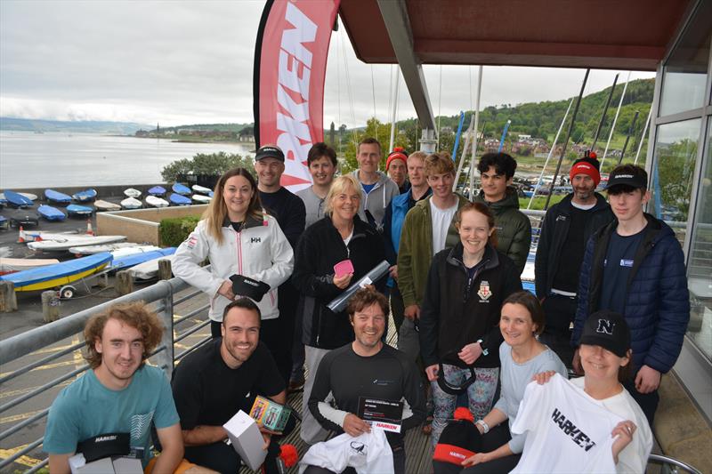
{"label": "overcast pale grey sky above the water and hills", "polygon": [[[0,0],[0,115],[164,126],[252,122],[263,4]],[[476,67],[424,70],[435,115],[474,108]],[[374,115],[374,94],[376,116],[388,120],[391,71],[357,60],[340,28],[329,50],[325,125],[363,125]],[[578,94],[584,72],[486,67],[481,108],[569,98]],[[586,92],[611,85],[616,72],[593,70]],[[622,71],[619,83],[626,76]],[[652,76],[634,72],[631,80]],[[398,117],[409,116],[415,111],[401,80]]]}

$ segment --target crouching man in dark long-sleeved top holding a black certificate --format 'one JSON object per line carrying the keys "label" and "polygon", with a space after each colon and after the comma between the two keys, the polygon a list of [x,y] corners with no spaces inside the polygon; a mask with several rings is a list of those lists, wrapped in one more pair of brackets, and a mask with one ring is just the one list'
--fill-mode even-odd
{"label": "crouching man in dark long-sleeved top holding a black certificate", "polygon": [[[358,437],[371,426],[357,415],[359,398],[390,402],[404,400],[401,432],[387,431],[396,474],[405,472],[405,431],[425,417],[425,398],[417,366],[398,349],[384,344],[388,301],[375,289],[353,295],[347,309],[355,340],[330,351],[319,366],[309,398],[309,410],[327,430]],[[331,396],[329,396],[331,394]],[[333,404],[326,402],[333,397]],[[348,471],[348,470],[347,470]],[[308,466],[306,474],[327,474],[324,468]]]}

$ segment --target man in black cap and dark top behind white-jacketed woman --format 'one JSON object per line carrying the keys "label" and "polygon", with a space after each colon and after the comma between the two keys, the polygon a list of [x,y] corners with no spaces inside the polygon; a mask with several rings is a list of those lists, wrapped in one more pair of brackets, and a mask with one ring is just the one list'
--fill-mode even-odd
{"label": "man in black cap and dark top behind white-jacketed woman", "polygon": [[[296,248],[304,231],[306,208],[302,199],[283,187],[284,153],[275,145],[264,145],[255,154],[255,172],[260,202],[277,219],[292,248]],[[270,348],[279,374],[287,381],[292,373],[292,344],[295,333],[295,309],[299,293],[287,280],[279,285],[277,304],[279,317],[263,321],[261,339]]]}

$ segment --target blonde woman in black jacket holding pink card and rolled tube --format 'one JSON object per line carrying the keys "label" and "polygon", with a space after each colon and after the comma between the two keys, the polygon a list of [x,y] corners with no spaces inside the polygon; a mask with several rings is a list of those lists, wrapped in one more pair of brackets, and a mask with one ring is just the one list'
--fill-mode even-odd
{"label": "blonde woman in black jacket holding pink card and rolled tube", "polygon": [[[328,302],[385,259],[380,235],[359,218],[362,198],[360,183],[352,175],[336,178],[326,197],[326,216],[304,230],[296,245],[292,283],[301,293],[297,321],[303,321],[302,341],[310,374],[304,383],[304,400],[312,393],[313,374],[321,358],[353,341],[346,312],[333,313]],[[385,279],[374,285],[383,290]],[[303,440],[314,444],[326,435],[304,404]]]}

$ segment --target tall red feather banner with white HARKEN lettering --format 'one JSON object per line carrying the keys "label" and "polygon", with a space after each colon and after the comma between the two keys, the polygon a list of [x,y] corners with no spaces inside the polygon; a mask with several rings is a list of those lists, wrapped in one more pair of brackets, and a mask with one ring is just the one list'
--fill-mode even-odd
{"label": "tall red feather banner with white HARKEN lettering", "polygon": [[324,76],[339,0],[268,0],[255,46],[255,141],[286,156],[282,185],[312,184],[306,156],[324,137]]}

